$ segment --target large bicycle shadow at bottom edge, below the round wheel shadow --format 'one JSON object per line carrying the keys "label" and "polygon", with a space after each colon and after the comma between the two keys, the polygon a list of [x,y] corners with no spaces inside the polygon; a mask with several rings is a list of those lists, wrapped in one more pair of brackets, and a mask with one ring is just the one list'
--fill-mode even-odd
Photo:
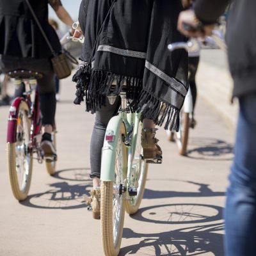
{"label": "large bicycle shadow at bottom edge, below the round wheel shadow", "polygon": [[140,234],[124,228],[123,237],[143,240],[121,248],[124,255],[216,255],[223,256],[223,223],[180,228],[156,234]]}

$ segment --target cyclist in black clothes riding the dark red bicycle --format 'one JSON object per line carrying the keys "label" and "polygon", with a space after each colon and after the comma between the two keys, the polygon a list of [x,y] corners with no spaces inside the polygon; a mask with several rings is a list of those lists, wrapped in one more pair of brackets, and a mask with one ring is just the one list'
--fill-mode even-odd
{"label": "cyclist in black clothes riding the dark red bicycle", "polygon": [[[58,36],[48,23],[48,3],[51,4],[56,15],[71,27],[73,20],[70,15],[63,8],[60,0],[30,2],[42,28],[51,40],[54,51],[61,51]],[[0,38],[1,72],[27,69],[44,75],[42,79],[38,79],[43,124],[42,150],[47,155],[56,154],[51,139],[56,111],[54,72],[50,60],[52,53],[38,29],[26,1],[1,0]]]}

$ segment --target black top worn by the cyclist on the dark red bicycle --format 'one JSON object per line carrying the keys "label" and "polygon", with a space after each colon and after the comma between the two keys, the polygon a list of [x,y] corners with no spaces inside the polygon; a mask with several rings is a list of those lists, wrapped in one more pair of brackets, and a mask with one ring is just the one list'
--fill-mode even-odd
{"label": "black top worn by the cyclist on the dark red bicycle", "polygon": [[[56,32],[48,22],[48,3],[56,10],[60,0],[30,0],[36,17],[54,51],[61,51]],[[5,56],[48,58],[52,55],[25,0],[1,0],[0,54]]]}

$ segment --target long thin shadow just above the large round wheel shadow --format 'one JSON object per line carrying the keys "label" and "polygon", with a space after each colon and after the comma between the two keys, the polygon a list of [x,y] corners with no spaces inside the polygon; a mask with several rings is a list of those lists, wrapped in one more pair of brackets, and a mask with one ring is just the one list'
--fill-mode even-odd
{"label": "long thin shadow just above the large round wheel shadow", "polygon": [[170,198],[170,197],[207,197],[207,196],[225,196],[225,192],[223,191],[212,191],[209,188],[209,184],[193,182],[189,180],[172,180],[179,182],[188,182],[189,184],[194,184],[199,186],[198,191],[159,191],[145,188],[143,198],[146,199],[157,199],[157,198]]}

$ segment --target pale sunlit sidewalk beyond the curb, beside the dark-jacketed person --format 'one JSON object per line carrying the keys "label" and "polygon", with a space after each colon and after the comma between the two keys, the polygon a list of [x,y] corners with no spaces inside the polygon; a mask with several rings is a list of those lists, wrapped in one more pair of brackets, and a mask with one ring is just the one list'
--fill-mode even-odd
{"label": "pale sunlit sidewalk beyond the curb, beside the dark-jacketed person", "polygon": [[233,81],[225,52],[219,49],[202,50],[196,82],[198,95],[207,100],[228,125],[235,127],[237,102],[230,102]]}

